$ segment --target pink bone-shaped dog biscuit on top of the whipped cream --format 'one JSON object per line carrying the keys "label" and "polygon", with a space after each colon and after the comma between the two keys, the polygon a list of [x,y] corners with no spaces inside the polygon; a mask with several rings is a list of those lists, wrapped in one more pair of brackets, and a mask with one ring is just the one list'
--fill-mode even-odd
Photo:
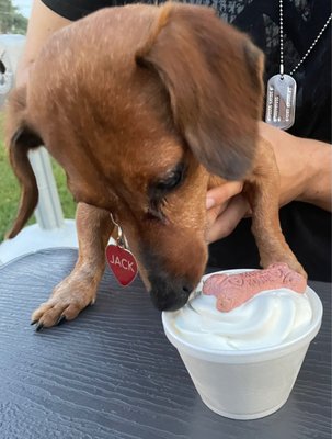
{"label": "pink bone-shaped dog biscuit on top of the whipped cream", "polygon": [[203,293],[217,297],[217,309],[231,311],[265,290],[288,288],[297,293],[306,291],[307,281],[286,263],[274,263],[265,270],[239,274],[214,274],[203,285]]}

